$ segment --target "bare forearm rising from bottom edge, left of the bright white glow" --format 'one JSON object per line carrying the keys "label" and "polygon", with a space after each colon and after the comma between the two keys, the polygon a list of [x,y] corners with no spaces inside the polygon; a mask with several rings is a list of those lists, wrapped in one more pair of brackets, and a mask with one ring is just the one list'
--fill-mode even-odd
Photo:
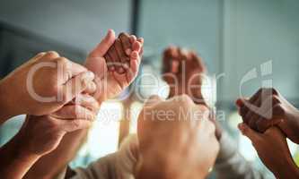
{"label": "bare forearm rising from bottom edge, left of the bright white glow", "polygon": [[59,175],[75,158],[75,154],[85,141],[87,132],[88,129],[66,133],[57,149],[40,158],[24,178],[52,179]]}

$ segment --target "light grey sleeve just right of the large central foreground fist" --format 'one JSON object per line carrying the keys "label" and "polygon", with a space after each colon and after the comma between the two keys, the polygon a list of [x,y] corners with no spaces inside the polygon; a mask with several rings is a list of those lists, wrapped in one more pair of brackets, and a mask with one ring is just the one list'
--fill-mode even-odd
{"label": "light grey sleeve just right of the large central foreground fist", "polygon": [[265,179],[266,174],[254,168],[239,153],[233,139],[224,132],[220,139],[220,151],[215,161],[217,179]]}

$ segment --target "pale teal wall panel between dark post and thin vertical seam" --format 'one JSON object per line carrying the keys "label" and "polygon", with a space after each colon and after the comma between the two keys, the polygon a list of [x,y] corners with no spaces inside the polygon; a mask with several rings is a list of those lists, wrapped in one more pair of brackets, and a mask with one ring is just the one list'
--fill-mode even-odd
{"label": "pale teal wall panel between dark post and thin vertical seam", "polygon": [[156,63],[165,47],[179,45],[197,50],[210,72],[217,72],[222,8],[222,0],[141,0],[138,31]]}

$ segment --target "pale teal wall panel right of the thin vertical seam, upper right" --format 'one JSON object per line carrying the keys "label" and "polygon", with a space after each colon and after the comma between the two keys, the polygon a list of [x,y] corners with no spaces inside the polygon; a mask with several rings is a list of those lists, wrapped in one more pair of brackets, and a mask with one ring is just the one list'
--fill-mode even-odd
{"label": "pale teal wall panel right of the thin vertical seam, upper right", "polygon": [[[242,78],[255,67],[259,78],[244,83],[244,95],[272,80],[286,98],[299,99],[298,9],[297,0],[224,1],[224,100],[239,96]],[[260,77],[260,64],[269,60],[271,74]]]}

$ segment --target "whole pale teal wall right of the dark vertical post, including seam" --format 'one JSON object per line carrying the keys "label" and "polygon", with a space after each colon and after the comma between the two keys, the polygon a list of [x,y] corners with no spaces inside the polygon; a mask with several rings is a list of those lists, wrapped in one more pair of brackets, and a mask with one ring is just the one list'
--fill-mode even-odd
{"label": "whole pale teal wall right of the dark vertical post, including seam", "polygon": [[[297,0],[142,0],[139,32],[155,66],[170,44],[196,49],[217,80],[217,99],[233,107],[246,72],[272,60],[263,80],[292,101],[299,98],[299,1]],[[264,81],[265,82],[265,81]],[[269,82],[269,81],[268,81]],[[250,96],[261,79],[247,81]]]}

